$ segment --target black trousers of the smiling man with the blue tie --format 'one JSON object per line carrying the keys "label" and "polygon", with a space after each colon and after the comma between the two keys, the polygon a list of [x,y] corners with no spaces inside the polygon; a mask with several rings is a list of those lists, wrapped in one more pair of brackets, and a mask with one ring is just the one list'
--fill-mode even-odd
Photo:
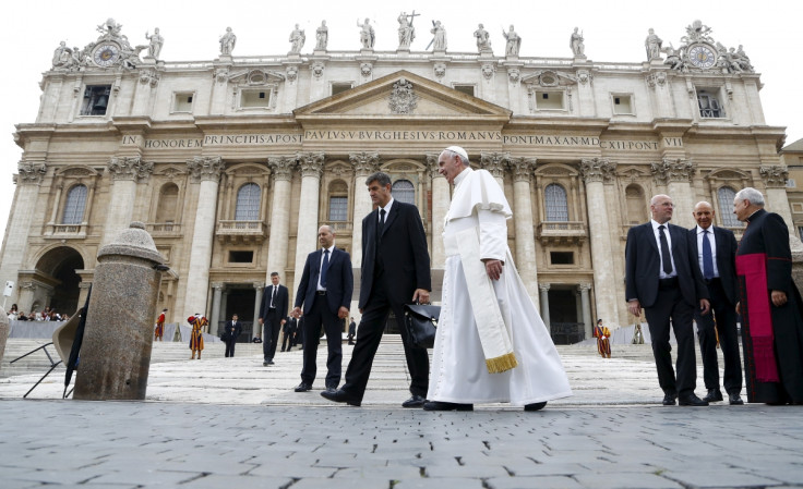
{"label": "black trousers of the smiling man with the blue tie", "polygon": [[719,389],[719,364],[717,362],[717,332],[714,330],[714,319],[717,319],[719,332],[719,347],[724,358],[724,378],[722,383],[729,394],[742,391],[742,358],[739,355],[739,338],[736,332],[735,305],[728,302],[719,279],[708,283],[708,295],[711,296],[711,313],[703,316],[699,309],[694,310],[694,320],[697,322],[697,338],[699,351],[703,354],[703,379],[706,389]]}

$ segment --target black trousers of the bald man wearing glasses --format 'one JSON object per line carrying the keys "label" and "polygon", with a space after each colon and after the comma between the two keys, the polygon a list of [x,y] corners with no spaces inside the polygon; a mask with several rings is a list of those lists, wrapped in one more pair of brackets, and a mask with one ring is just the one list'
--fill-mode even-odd
{"label": "black trousers of the bald man wearing glasses", "polygon": [[[694,329],[692,318],[694,306],[683,301],[680,288],[671,285],[658,291],[652,307],[645,307],[644,314],[652,337],[652,355],[656,358],[658,384],[666,394],[681,398],[693,394],[697,384],[697,366],[694,355]],[[674,338],[678,340],[678,380],[672,369],[672,354],[669,344],[669,327],[672,321]]]}

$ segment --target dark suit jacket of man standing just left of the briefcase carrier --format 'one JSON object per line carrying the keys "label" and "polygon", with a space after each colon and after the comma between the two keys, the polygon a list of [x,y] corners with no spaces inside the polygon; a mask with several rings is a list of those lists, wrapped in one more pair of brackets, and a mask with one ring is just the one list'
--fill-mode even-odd
{"label": "dark suit jacket of man standing just left of the briefcase carrier", "polygon": [[[296,307],[304,306],[304,314],[309,314],[315,302],[317,277],[321,274],[323,249],[319,248],[307,255],[304,271],[296,292]],[[332,314],[337,315],[340,307],[351,306],[351,293],[355,289],[355,278],[351,271],[351,256],[335,247],[329,257],[326,269],[326,304]]]}

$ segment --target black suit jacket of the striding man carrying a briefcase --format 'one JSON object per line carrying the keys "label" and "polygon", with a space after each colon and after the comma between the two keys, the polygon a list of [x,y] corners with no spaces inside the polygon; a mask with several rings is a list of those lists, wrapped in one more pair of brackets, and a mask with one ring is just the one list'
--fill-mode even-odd
{"label": "black suit jacket of the striding man carrying a briefcase", "polygon": [[[362,220],[362,273],[359,307],[368,305],[374,286],[376,261],[376,222],[374,209]],[[416,206],[393,201],[382,229],[382,265],[391,302],[409,303],[416,289],[432,290],[430,253],[421,216]]]}

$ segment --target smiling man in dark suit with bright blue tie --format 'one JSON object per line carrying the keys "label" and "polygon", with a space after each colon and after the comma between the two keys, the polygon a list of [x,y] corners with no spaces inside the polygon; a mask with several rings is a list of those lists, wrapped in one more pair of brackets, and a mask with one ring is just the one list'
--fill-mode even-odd
{"label": "smiling man in dark suit with bright blue tie", "polygon": [[[697,203],[692,212],[697,225],[688,231],[688,239],[697,248],[697,266],[708,286],[714,314],[694,311],[697,322],[699,350],[703,354],[703,379],[708,394],[703,401],[722,401],[719,390],[719,365],[717,362],[717,333],[724,357],[724,390],[733,405],[744,404],[742,392],[742,359],[739,356],[736,337],[736,239],[733,232],[711,225],[714,207],[707,201]],[[716,317],[716,325],[714,318]],[[715,330],[716,326],[716,330]]]}

